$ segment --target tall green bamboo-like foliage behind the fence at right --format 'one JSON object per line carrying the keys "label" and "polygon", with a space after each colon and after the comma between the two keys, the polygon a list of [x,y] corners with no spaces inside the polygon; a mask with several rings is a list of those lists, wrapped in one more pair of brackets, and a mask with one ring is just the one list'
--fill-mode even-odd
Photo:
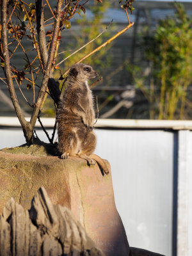
{"label": "tall green bamboo-like foliage behind the fence at right", "polygon": [[159,20],[154,35],[145,40],[145,53],[152,68],[150,84],[159,87],[160,95],[158,91],[145,90],[145,76],[138,85],[149,101],[159,106],[159,119],[185,117],[186,91],[192,82],[192,19],[182,4],[175,7],[175,15]]}

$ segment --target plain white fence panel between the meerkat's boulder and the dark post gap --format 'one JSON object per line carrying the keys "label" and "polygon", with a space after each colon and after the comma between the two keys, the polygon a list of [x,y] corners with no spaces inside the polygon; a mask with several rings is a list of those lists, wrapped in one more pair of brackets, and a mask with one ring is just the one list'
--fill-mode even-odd
{"label": "plain white fence panel between the meerkat's boulder and the dark post gap", "polygon": [[97,130],[131,246],[172,255],[173,132]]}

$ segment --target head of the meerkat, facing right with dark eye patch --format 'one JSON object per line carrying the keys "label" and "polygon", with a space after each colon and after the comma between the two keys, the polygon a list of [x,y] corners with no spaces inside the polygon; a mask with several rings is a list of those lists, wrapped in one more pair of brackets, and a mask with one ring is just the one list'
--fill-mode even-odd
{"label": "head of the meerkat, facing right with dark eye patch", "polygon": [[78,81],[88,81],[98,76],[99,73],[93,70],[90,65],[78,63],[70,68],[68,73],[69,78],[73,78]]}

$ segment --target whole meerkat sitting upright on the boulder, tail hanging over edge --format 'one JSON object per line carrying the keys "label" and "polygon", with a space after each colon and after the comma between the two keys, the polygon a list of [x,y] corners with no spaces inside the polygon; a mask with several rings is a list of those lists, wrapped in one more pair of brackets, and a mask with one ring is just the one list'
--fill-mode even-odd
{"label": "whole meerkat sitting upright on the boulder, tail hanging over edge", "polygon": [[93,96],[88,80],[99,73],[89,65],[75,64],[70,68],[67,87],[58,104],[56,122],[58,124],[58,152],[62,159],[77,156],[85,159],[88,164],[100,165],[104,173],[109,170],[104,161],[93,154],[97,139],[93,132],[95,111]]}

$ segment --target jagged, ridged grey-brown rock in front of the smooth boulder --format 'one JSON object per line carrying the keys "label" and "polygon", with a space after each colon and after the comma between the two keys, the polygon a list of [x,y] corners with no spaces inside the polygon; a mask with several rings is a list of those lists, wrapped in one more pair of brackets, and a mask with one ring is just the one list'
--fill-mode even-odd
{"label": "jagged, ridged grey-brown rock in front of the smooth boulder", "polygon": [[0,216],[0,256],[104,256],[67,207],[40,188],[25,210],[11,198]]}

